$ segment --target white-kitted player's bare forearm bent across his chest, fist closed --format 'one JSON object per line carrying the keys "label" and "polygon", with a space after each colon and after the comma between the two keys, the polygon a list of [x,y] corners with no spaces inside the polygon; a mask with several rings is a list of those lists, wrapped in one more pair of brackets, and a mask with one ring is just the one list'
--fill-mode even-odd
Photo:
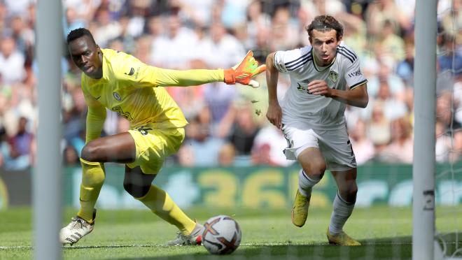
{"label": "white-kitted player's bare forearm bent across his chest, fist closed", "polygon": [[365,108],[369,102],[366,83],[353,89],[340,90],[330,88],[324,80],[313,80],[309,82],[308,90],[311,94],[330,97],[350,106],[360,108]]}

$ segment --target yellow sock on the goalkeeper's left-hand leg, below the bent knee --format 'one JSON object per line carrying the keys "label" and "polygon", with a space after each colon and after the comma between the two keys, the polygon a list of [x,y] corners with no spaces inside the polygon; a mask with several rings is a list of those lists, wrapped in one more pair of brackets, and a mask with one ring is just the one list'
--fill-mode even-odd
{"label": "yellow sock on the goalkeeper's left-hand leg, below the bent knee", "polygon": [[104,182],[104,164],[85,161],[84,159],[80,159],[80,161],[82,163],[82,182],[80,184],[80,210],[77,215],[92,223],[94,204],[96,204]]}

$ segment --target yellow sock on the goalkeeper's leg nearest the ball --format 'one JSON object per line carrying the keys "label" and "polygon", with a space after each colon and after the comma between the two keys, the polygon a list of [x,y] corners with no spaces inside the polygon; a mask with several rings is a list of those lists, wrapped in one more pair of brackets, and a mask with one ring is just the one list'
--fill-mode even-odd
{"label": "yellow sock on the goalkeeper's leg nearest the ball", "polygon": [[189,235],[196,225],[193,219],[186,216],[178,205],[172,201],[167,192],[155,185],[151,185],[148,193],[141,198],[137,198],[137,200],[144,203],[155,215],[176,226],[183,235]]}

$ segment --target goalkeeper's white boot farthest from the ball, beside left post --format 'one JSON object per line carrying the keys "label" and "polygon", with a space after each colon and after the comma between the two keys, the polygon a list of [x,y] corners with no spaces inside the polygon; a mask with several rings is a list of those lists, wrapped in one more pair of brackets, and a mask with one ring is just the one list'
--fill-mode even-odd
{"label": "goalkeeper's white boot farthest from the ball, beside left post", "polygon": [[87,235],[94,228],[94,217],[96,217],[96,210],[93,210],[93,222],[92,224],[86,222],[84,219],[76,216],[71,219],[71,223],[64,228],[61,229],[59,232],[59,241],[63,244],[70,244],[73,245],[83,238],[83,236]]}

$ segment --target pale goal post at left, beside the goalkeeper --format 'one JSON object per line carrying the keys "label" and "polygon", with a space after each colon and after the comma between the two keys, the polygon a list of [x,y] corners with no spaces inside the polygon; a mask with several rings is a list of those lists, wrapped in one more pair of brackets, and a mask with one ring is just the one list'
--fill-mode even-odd
{"label": "pale goal post at left, beside the goalkeeper", "polygon": [[37,164],[33,182],[34,259],[61,259],[61,0],[37,1]]}

